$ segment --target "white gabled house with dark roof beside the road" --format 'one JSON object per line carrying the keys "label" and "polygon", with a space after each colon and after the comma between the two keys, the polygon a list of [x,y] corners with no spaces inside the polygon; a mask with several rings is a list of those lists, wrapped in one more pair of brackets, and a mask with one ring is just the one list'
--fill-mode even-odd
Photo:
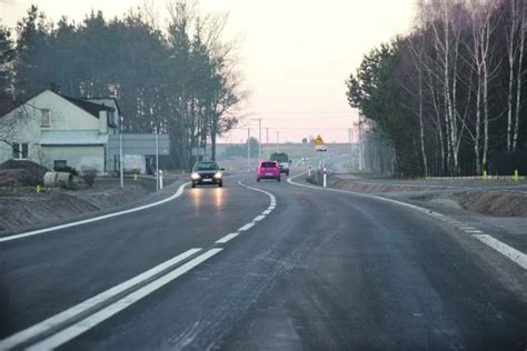
{"label": "white gabled house with dark roof beside the road", "polygon": [[43,90],[0,117],[0,162],[27,159],[50,169],[116,169],[108,140],[118,132],[119,107],[112,98],[74,99]]}

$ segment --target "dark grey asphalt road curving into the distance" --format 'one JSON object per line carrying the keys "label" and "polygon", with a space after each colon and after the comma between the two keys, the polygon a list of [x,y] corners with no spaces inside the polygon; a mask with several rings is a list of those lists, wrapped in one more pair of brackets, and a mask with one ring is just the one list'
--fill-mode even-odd
{"label": "dark grey asphalt road curving into the distance", "polygon": [[527,274],[505,257],[408,208],[245,177],[0,242],[0,349],[527,349]]}

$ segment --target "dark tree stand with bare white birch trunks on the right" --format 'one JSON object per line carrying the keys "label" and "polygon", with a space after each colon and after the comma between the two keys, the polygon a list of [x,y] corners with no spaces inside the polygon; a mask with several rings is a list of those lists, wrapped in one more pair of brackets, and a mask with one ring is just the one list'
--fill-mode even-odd
{"label": "dark tree stand with bare white birch trunks on the right", "polygon": [[348,102],[400,176],[527,172],[525,0],[419,0],[415,24],[365,54]]}

